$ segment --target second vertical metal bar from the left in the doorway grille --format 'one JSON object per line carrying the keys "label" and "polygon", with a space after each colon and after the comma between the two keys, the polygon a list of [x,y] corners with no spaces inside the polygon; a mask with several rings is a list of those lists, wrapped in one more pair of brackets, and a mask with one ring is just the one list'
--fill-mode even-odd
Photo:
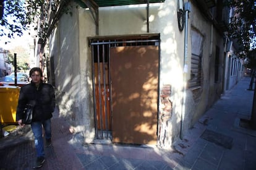
{"label": "second vertical metal bar from the left in the doorway grille", "polygon": [[100,129],[101,129],[101,138],[103,138],[103,122],[102,122],[102,102],[101,102],[101,82],[100,82],[100,45],[97,45],[98,52],[98,90],[99,90],[99,102],[100,102]]}

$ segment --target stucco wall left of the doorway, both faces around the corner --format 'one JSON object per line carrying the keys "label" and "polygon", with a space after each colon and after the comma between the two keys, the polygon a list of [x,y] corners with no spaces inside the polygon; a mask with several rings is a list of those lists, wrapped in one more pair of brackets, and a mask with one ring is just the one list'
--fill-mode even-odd
{"label": "stucco wall left of the doorway, both faces around the corner", "polygon": [[95,35],[90,11],[72,7],[63,14],[49,41],[49,56],[54,59],[56,98],[60,116],[70,122],[75,140],[92,142],[93,123],[91,57],[87,36]]}

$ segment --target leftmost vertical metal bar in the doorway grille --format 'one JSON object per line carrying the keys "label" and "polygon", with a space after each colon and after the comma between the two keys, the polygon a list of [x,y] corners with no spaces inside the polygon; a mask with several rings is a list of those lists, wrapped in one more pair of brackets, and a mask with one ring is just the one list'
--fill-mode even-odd
{"label": "leftmost vertical metal bar in the doorway grille", "polygon": [[93,106],[94,106],[94,118],[95,118],[94,119],[94,122],[95,122],[95,135],[96,135],[96,138],[99,138],[99,135],[98,135],[97,111],[96,111],[94,45],[92,45],[91,50],[92,50],[92,80],[93,80]]}

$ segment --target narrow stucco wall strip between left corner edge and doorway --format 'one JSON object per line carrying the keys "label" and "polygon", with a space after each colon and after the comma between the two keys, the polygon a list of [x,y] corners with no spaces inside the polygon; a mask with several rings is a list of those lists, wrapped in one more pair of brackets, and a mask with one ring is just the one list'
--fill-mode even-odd
{"label": "narrow stucco wall strip between left corner edge and doorway", "polygon": [[88,45],[88,36],[95,36],[96,26],[90,11],[79,9],[79,55],[80,55],[80,89],[79,89],[79,131],[83,132],[84,142],[91,143],[95,138],[92,87],[92,55]]}

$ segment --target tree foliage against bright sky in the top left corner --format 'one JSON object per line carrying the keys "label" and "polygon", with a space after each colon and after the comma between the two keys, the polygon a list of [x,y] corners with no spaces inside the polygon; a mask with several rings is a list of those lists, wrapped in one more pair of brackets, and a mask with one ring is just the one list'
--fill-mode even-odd
{"label": "tree foliage against bright sky in the top left corner", "polygon": [[[4,1],[4,14],[0,17],[0,36],[14,38],[14,35],[22,36],[23,31],[29,29],[36,30],[42,41],[46,40],[49,29],[48,16],[49,7],[51,11],[56,12],[61,1],[67,0],[0,0]],[[69,13],[69,7],[64,7],[63,13]],[[11,20],[10,20],[11,19]],[[40,21],[40,22],[38,22]]]}

